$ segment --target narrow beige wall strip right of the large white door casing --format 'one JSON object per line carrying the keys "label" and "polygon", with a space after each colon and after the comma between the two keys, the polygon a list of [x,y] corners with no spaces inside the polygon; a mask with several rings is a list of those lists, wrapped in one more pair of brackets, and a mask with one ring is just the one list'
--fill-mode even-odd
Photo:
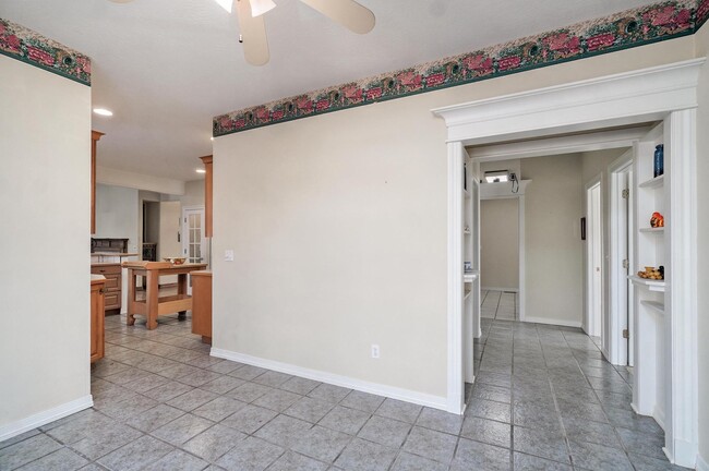
{"label": "narrow beige wall strip right of the large white door casing", "polygon": [[[709,24],[705,23],[694,36],[697,44],[697,56],[709,56]],[[705,267],[709,266],[709,63],[705,63],[699,78],[699,109],[697,111],[697,267],[698,274],[698,310],[699,324],[699,455],[705,464],[709,463],[709,290],[704,276]],[[702,398],[705,400],[702,400]]]}

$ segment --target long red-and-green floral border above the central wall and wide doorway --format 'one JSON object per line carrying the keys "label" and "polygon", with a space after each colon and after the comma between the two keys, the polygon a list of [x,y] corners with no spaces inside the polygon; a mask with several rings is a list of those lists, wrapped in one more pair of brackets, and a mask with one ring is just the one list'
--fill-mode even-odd
{"label": "long red-and-green floral border above the central wall and wide doorway", "polygon": [[670,0],[217,116],[214,136],[524,72],[694,34],[709,0]]}

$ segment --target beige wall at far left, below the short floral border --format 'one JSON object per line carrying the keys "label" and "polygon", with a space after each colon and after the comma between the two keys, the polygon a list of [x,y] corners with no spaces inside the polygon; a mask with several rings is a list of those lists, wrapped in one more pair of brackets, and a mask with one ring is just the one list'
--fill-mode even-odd
{"label": "beige wall at far left, below the short floral border", "polygon": [[91,88],[0,56],[0,104],[2,440],[91,398]]}

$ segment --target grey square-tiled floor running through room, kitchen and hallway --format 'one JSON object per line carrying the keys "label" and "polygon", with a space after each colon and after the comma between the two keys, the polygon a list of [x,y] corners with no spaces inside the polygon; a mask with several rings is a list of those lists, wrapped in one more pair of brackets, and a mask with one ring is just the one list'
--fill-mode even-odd
{"label": "grey square-tiled floor running through room, kitchen and hallway", "polygon": [[123,323],[106,319],[94,408],[0,443],[1,470],[680,469],[578,329],[483,319],[458,416],[211,358],[189,321]]}

